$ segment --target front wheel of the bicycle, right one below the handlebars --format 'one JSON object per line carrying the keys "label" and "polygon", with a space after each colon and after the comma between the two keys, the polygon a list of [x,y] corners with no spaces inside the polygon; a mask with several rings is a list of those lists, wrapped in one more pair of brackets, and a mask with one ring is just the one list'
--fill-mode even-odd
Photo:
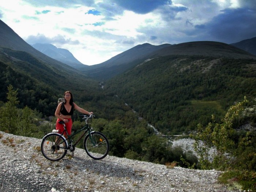
{"label": "front wheel of the bicycle, right one below the handlebars", "polygon": [[91,132],[86,135],[83,144],[86,153],[93,159],[103,159],[109,153],[108,139],[100,132]]}

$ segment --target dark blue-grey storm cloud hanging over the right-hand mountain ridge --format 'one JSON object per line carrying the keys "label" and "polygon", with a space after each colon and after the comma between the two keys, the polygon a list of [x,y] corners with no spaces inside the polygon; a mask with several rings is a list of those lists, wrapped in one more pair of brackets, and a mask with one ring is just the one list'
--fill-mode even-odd
{"label": "dark blue-grey storm cloud hanging over the right-hand mountain ridge", "polygon": [[194,25],[189,20],[187,25],[194,30],[181,29],[184,41],[219,41],[227,44],[256,37],[256,10],[250,8],[225,9],[209,22]]}

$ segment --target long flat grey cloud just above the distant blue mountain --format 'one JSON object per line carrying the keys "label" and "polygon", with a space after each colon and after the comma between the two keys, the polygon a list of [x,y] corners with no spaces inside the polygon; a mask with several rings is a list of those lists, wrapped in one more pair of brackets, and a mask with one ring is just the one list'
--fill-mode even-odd
{"label": "long flat grey cloud just above the distant blue mountain", "polygon": [[55,37],[49,38],[45,37],[43,34],[38,34],[36,36],[30,35],[25,39],[28,44],[35,44],[35,43],[45,43],[45,44],[71,44],[71,45],[78,45],[79,41],[71,41],[71,39],[65,39],[62,35],[57,35]]}

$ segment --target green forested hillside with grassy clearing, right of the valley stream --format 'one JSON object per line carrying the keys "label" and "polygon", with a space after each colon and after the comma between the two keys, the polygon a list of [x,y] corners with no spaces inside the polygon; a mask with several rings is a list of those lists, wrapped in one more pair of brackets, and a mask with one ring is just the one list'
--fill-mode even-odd
{"label": "green forested hillside with grassy clearing, right of the valley stream", "polygon": [[204,125],[244,96],[256,95],[256,61],[205,56],[157,57],[105,84],[163,133]]}

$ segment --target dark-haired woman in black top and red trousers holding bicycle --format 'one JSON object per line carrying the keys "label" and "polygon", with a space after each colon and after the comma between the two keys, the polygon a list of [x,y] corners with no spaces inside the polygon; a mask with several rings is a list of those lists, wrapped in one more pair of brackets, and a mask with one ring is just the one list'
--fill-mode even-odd
{"label": "dark-haired woman in black top and red trousers holding bicycle", "polygon": [[[65,99],[64,106],[61,107],[63,102],[59,103],[55,111],[55,116],[57,117],[56,130],[58,130],[59,132],[64,132],[64,125],[59,123],[59,121],[64,121],[68,135],[71,135],[71,128],[73,124],[71,116],[74,113],[74,109],[78,110],[80,113],[84,113],[88,115],[93,114],[93,112],[88,112],[80,108],[78,105],[76,105],[76,103],[73,102],[73,95],[70,91],[66,91],[64,93],[64,99]],[[65,138],[68,138],[65,132],[64,132],[64,136]]]}

